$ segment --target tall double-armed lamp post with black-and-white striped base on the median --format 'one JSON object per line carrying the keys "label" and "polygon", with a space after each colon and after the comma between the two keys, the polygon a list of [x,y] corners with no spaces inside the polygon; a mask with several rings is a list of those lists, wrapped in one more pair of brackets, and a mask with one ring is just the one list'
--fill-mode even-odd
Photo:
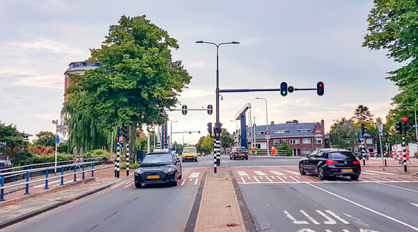
{"label": "tall double-armed lamp post with black-and-white striped base on the median", "polygon": [[218,144],[220,144],[220,142],[218,142],[217,140],[219,140],[220,137],[220,133],[221,133],[221,126],[219,124],[219,46],[221,46],[222,44],[240,44],[240,42],[222,42],[220,44],[215,44],[214,42],[204,42],[204,41],[196,41],[196,44],[213,44],[216,46],[216,122],[215,122],[215,143],[214,143],[214,151],[216,154],[216,165],[214,165],[215,168],[215,173],[216,171],[216,167],[220,165],[220,157],[219,157],[219,153],[218,151],[220,151],[220,145],[218,146]]}

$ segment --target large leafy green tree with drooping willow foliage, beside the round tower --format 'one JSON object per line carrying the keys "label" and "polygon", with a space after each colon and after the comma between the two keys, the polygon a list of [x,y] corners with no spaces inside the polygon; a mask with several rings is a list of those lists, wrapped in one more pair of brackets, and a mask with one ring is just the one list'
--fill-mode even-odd
{"label": "large leafy green tree with drooping willow foliage, beside the round tower", "polygon": [[[90,149],[114,139],[115,126],[130,124],[131,135],[144,124],[162,124],[190,79],[170,49],[179,46],[167,31],[146,16],[126,17],[109,28],[100,49],[91,49],[89,63],[101,63],[84,75],[73,75],[63,115],[70,124],[70,143],[88,142]],[[93,138],[91,136],[93,135]],[[114,134],[115,135],[115,134]],[[134,147],[136,136],[131,136]]]}

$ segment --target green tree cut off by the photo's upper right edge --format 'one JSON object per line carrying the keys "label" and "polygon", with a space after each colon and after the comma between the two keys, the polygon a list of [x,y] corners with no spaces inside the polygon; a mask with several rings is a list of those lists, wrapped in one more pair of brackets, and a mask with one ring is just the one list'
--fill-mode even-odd
{"label": "green tree cut off by the photo's upper right edge", "polygon": [[[363,47],[385,49],[388,58],[403,64],[387,76],[400,90],[392,99],[396,108],[386,117],[389,136],[395,139],[396,122],[401,120],[401,116],[412,117],[412,109],[418,110],[418,2],[374,0],[374,3],[367,19],[369,33],[364,36]],[[412,109],[408,110],[407,106]],[[408,140],[412,139],[412,131],[408,134]]]}

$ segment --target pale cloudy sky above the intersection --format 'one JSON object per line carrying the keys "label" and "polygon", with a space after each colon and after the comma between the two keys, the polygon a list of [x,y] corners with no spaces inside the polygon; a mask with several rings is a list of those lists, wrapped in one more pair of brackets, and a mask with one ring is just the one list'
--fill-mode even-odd
{"label": "pale cloudy sky above the intersection", "polygon": [[[173,132],[194,144],[215,122],[216,47],[196,41],[232,42],[219,47],[219,88],[316,88],[299,91],[223,93],[220,122],[232,132],[235,114],[251,103],[257,125],[297,119],[325,121],[350,118],[360,104],[385,118],[398,88],[385,79],[401,64],[386,51],[362,47],[371,0],[297,1],[0,1],[0,121],[32,134],[55,131],[64,101],[64,72],[73,61],[86,60],[99,48],[109,26],[122,15],[146,15],[178,40],[173,60],[192,76],[178,99],[188,108],[214,106],[214,113],[169,112]],[[171,124],[169,122],[169,124]],[[183,134],[173,140],[183,142]]]}

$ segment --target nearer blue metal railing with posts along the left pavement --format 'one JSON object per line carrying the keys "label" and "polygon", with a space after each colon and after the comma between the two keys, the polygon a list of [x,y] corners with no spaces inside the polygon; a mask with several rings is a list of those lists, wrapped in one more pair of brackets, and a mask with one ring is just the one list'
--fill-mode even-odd
{"label": "nearer blue metal railing with posts along the left pavement", "polygon": [[[16,186],[20,186],[20,185],[26,185],[26,191],[25,191],[25,195],[26,194],[30,194],[29,192],[29,184],[30,183],[37,183],[40,181],[45,181],[45,190],[49,189],[48,188],[48,181],[51,179],[58,179],[61,178],[61,184],[60,185],[64,185],[64,176],[71,176],[74,175],[74,181],[72,182],[77,182],[77,174],[82,174],[82,180],[84,180],[84,173],[85,172],[91,172],[91,177],[94,176],[94,165],[95,163],[98,163],[96,161],[91,161],[91,162],[85,162],[85,163],[72,163],[70,165],[61,165],[61,166],[53,166],[53,167],[41,167],[41,168],[36,168],[36,169],[26,169],[26,170],[19,170],[19,171],[13,171],[13,172],[2,172],[0,173],[0,181],[1,181],[1,187],[0,187],[0,201],[4,201],[4,190],[6,188],[12,188],[12,187],[16,187]],[[79,172],[77,172],[77,166],[80,167]],[[74,169],[73,173],[68,173],[68,174],[64,174],[64,169],[65,168],[72,168]],[[91,169],[86,169],[86,167],[91,167]],[[49,173],[52,173],[53,169],[59,169],[61,171],[61,174],[59,176],[48,176]],[[45,178],[43,179],[37,179],[34,181],[29,181],[29,176],[31,173],[33,172],[45,172]],[[13,185],[7,185],[4,186],[4,180],[6,178],[9,178],[10,176],[16,176],[16,175],[22,175],[24,174],[26,176],[26,182],[22,182],[22,183],[15,183]]]}

